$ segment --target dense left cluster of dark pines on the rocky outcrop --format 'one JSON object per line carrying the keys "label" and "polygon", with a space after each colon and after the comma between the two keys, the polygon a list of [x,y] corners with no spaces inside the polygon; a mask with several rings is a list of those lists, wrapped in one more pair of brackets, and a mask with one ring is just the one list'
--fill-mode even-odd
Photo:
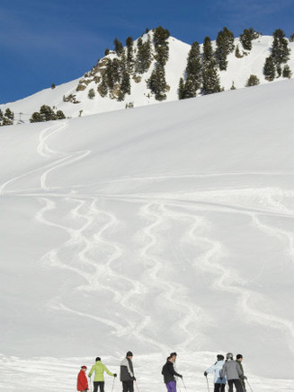
{"label": "dense left cluster of dark pines on the rocky outcrop", "polygon": [[[156,100],[165,100],[167,85],[165,82],[165,64],[169,56],[167,39],[170,36],[168,30],[159,26],[149,32],[146,30],[145,37],[138,38],[134,48],[134,40],[126,39],[126,47],[123,48],[119,39],[114,39],[114,50],[105,50],[105,56],[97,65],[85,74],[90,80],[82,80],[86,85],[91,81],[98,83],[97,91],[102,97],[110,95],[111,98],[124,100],[126,94],[130,94],[130,78],[137,83],[141,81],[141,75],[145,74],[153,60],[156,60],[154,70],[147,80],[148,88],[155,94]],[[116,57],[109,56],[115,54]],[[99,73],[100,76],[96,74]],[[91,79],[92,78],[92,79]],[[76,90],[84,90],[80,85]],[[93,88],[88,91],[88,98],[93,100],[96,92]]]}

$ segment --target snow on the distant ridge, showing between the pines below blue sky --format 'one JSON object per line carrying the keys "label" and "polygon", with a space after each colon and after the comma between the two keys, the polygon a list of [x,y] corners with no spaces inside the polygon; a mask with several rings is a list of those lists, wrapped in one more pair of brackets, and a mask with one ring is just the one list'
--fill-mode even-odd
{"label": "snow on the distant ridge, showing between the pines below blue sky", "polygon": [[[150,31],[148,34],[151,38],[152,32]],[[147,34],[144,34],[143,39],[147,39]],[[259,37],[252,41],[253,48],[251,51],[244,51],[240,40],[236,38],[235,46],[238,45],[240,52],[244,52],[245,54],[242,58],[236,58],[234,51],[227,57],[227,71],[219,72],[220,85],[226,91],[230,90],[233,83],[237,89],[244,88],[245,83],[251,74],[255,74],[259,78],[261,84],[268,84],[269,82],[267,82],[263,76],[263,65],[265,58],[269,57],[271,53],[272,40],[272,37],[269,36]],[[173,101],[178,100],[179,81],[185,73],[187,57],[191,46],[173,37],[168,39],[168,43],[169,59],[165,65],[165,80],[170,89],[169,91],[166,91],[166,101]],[[134,42],[135,48],[136,45],[137,40]],[[216,48],[215,41],[212,42],[212,46],[213,48]],[[290,65],[290,69],[294,72],[294,42],[290,42],[289,47],[291,49],[291,53],[288,65]],[[200,45],[200,50],[202,51],[202,45]],[[111,53],[108,57],[112,59],[116,57],[116,55]],[[76,91],[76,87],[80,80],[76,79],[75,81],[57,86],[54,90],[49,88],[23,100],[0,105],[0,109],[12,109],[15,114],[15,122],[20,119],[28,122],[29,118],[31,118],[31,114],[34,111],[39,111],[40,106],[43,104],[62,110],[65,115],[70,118],[76,118],[80,115],[84,117],[86,115],[125,109],[126,105],[129,103],[133,103],[135,107],[155,104],[158,103],[158,101],[156,101],[155,97],[150,94],[150,90],[147,89],[147,80],[152,73],[154,65],[155,59],[153,59],[147,73],[141,75],[140,82],[135,82],[133,78],[130,79],[131,94],[127,94],[123,101],[113,100],[110,97],[102,98],[102,96],[97,92],[97,83],[95,82],[89,83],[84,91]],[[282,77],[275,79],[274,82],[280,82],[282,79]],[[94,89],[96,93],[93,100],[88,98],[88,92],[90,89]],[[67,97],[69,94],[76,95],[76,100],[80,103],[74,104],[71,102],[64,102],[63,97]]]}

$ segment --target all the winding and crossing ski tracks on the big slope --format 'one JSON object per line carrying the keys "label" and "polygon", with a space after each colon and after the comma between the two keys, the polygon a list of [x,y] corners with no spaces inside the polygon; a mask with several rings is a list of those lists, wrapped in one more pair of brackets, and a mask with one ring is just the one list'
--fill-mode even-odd
{"label": "all the winding and crossing ski tracks on the big slope", "polygon": [[[216,211],[221,213],[240,213],[249,216],[254,223],[254,226],[260,231],[263,231],[268,236],[274,236],[281,241],[287,241],[289,244],[289,254],[291,259],[294,258],[294,236],[291,231],[282,230],[271,226],[263,222],[263,216],[287,216],[291,219],[294,218],[294,212],[289,207],[283,205],[282,200],[276,200],[272,197],[271,193],[269,197],[263,200],[263,205],[254,207],[252,205],[242,205],[242,200],[238,204],[228,200],[219,202],[203,200],[192,200],[190,198],[180,199],[179,195],[174,194],[157,194],[157,195],[76,195],[72,196],[70,191],[66,189],[66,193],[62,194],[63,188],[59,188],[60,192],[57,194],[48,192],[46,196],[41,196],[39,191],[49,191],[55,189],[49,186],[49,175],[55,170],[60,169],[64,165],[72,164],[76,161],[83,160],[90,151],[84,152],[57,152],[49,148],[49,142],[51,137],[58,135],[64,129],[67,128],[67,122],[63,122],[61,126],[49,126],[40,133],[40,140],[37,152],[45,159],[54,159],[49,164],[43,165],[38,169],[28,171],[20,176],[16,176],[13,179],[6,181],[0,187],[0,194],[4,193],[15,194],[20,196],[34,196],[36,197],[42,207],[39,212],[36,213],[35,218],[42,225],[63,231],[67,235],[67,240],[61,242],[58,247],[51,248],[49,252],[43,255],[42,262],[53,268],[60,268],[67,270],[73,274],[77,274],[83,279],[83,282],[76,288],[80,292],[110,292],[112,301],[119,302],[122,308],[127,313],[134,314],[136,320],[123,318],[123,322],[120,318],[116,321],[116,318],[104,318],[94,313],[88,313],[81,309],[75,309],[73,306],[69,307],[63,300],[62,295],[59,294],[57,297],[52,298],[49,301],[50,309],[56,311],[63,311],[71,314],[75,314],[77,318],[91,318],[98,323],[111,328],[113,334],[117,336],[124,336],[132,333],[134,338],[138,340],[144,340],[147,344],[152,347],[156,347],[161,352],[168,352],[168,346],[166,344],[159,344],[156,339],[150,337],[147,334],[147,329],[152,325],[152,315],[147,315],[142,309],[140,309],[133,298],[139,294],[147,294],[147,286],[144,283],[138,282],[134,279],[130,279],[126,274],[119,274],[116,272],[114,266],[115,263],[124,257],[125,248],[119,243],[115,242],[111,238],[112,231],[115,231],[124,222],[120,222],[119,218],[111,210],[101,209],[98,207],[102,198],[106,200],[125,200],[133,202],[139,205],[138,216],[145,221],[145,225],[137,233],[134,234],[135,240],[140,240],[141,246],[139,247],[138,254],[140,260],[144,262],[144,270],[148,281],[156,282],[156,285],[160,287],[161,296],[165,301],[173,304],[174,309],[181,309],[183,317],[178,324],[178,328],[185,336],[182,348],[185,350],[189,349],[189,346],[196,338],[203,341],[205,335],[196,335],[196,326],[205,326],[206,323],[213,323],[213,320],[209,319],[203,309],[200,306],[195,305],[192,301],[185,299],[181,300],[181,296],[185,295],[187,289],[181,283],[169,282],[165,280],[163,270],[165,268],[166,259],[162,255],[158,255],[161,250],[160,241],[164,241],[165,245],[169,240],[169,246],[172,247],[170,238],[165,237],[165,227],[177,224],[177,222],[184,223],[184,231],[182,238],[179,239],[179,247],[190,247],[203,246],[207,250],[203,250],[199,257],[195,257],[192,260],[192,266],[196,270],[201,270],[211,277],[210,283],[213,287],[218,288],[223,292],[232,292],[236,294],[236,307],[242,309],[245,317],[262,326],[272,327],[280,329],[290,335],[290,349],[294,352],[293,337],[294,337],[294,325],[287,319],[280,318],[278,316],[267,314],[259,309],[254,309],[251,304],[251,298],[254,296],[254,292],[245,289],[244,285],[240,288],[242,279],[236,274],[236,271],[229,270],[221,263],[222,257],[226,255],[226,249],[223,244],[218,240],[209,238],[209,235],[201,233],[200,228],[209,224],[209,222],[197,214],[197,212],[203,211]],[[262,175],[280,175],[280,174],[292,174],[290,171],[244,171],[242,173],[209,173],[209,174],[198,174],[198,175],[183,175],[183,176],[158,176],[150,178],[133,178],[133,179],[115,179],[114,181],[141,181],[142,179],[150,179],[150,181],[157,179],[188,179],[197,177],[211,177],[211,176],[235,176],[235,175],[246,175],[246,174],[262,174]],[[23,179],[26,176],[35,174],[40,176],[40,189],[35,189],[35,193],[29,194],[25,189],[18,189],[17,180]],[[111,180],[112,181],[112,180]],[[100,183],[107,183],[108,181],[101,181]],[[11,187],[13,189],[6,190]],[[79,187],[77,184],[76,187]],[[82,187],[82,186],[81,186]],[[226,189],[224,189],[226,191]],[[231,189],[230,189],[231,191]],[[237,191],[237,190],[236,190]],[[253,190],[254,196],[254,190]],[[250,192],[248,193],[250,197]],[[290,193],[290,197],[293,195]],[[59,202],[63,202],[67,205],[67,209],[64,206],[59,206]],[[238,201],[238,200],[237,200]],[[58,211],[58,213],[56,213]],[[63,223],[63,216],[67,214],[67,224]],[[56,218],[58,216],[58,219]],[[69,219],[68,219],[69,218]],[[195,245],[196,244],[196,245]],[[67,249],[76,249],[75,259],[67,259],[63,257],[63,253]],[[99,260],[92,255],[98,255]],[[177,255],[174,253],[174,257]],[[124,287],[128,284],[128,292],[120,292],[115,289],[115,284],[111,284],[111,280],[120,282]],[[107,282],[110,282],[109,284]],[[181,295],[179,295],[181,294]],[[13,374],[13,367],[19,366],[19,359],[13,362],[13,357],[8,361],[3,356],[0,356],[0,360],[4,365],[4,371],[9,373],[10,376]],[[77,362],[76,360],[76,366]],[[53,361],[54,362],[54,361]],[[17,363],[17,364],[16,364]],[[49,362],[42,359],[31,360],[28,366],[25,367],[23,364],[22,372],[25,376],[38,373],[44,377],[42,381],[42,388],[40,388],[40,379],[31,377],[31,388],[38,388],[40,391],[50,390],[51,381],[46,378],[46,375],[51,375],[57,369],[60,368],[67,371],[72,367],[71,362],[62,362],[56,360],[52,363],[52,359]],[[24,377],[24,376],[22,376]],[[22,378],[21,378],[22,380]],[[68,379],[67,379],[68,383]],[[16,388],[22,388],[21,382],[19,384],[14,383]],[[66,382],[60,383],[67,390],[74,390],[68,388]],[[196,383],[195,386],[199,387]],[[9,389],[9,385],[6,382],[0,381],[0,387]],[[260,386],[260,390],[281,390],[284,388],[278,388],[277,385],[272,381],[272,386],[269,384],[267,388]],[[278,389],[277,389],[278,388]],[[285,388],[287,389],[287,388]],[[13,388],[11,390],[14,390]],[[25,389],[24,389],[25,390]],[[163,387],[164,390],[164,387]],[[201,389],[198,389],[201,390]],[[203,388],[202,390],[205,390]],[[288,389],[290,390],[290,388]],[[292,389],[293,390],[293,389]]]}

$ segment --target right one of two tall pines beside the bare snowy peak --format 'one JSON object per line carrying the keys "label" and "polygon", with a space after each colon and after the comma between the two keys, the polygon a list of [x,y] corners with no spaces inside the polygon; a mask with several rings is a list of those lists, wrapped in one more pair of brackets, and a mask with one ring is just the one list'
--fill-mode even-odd
{"label": "right one of two tall pines beside the bare snowy peak", "polygon": [[217,61],[211,46],[209,37],[204,39],[203,44],[203,67],[202,67],[202,93],[204,95],[221,91],[217,71]]}

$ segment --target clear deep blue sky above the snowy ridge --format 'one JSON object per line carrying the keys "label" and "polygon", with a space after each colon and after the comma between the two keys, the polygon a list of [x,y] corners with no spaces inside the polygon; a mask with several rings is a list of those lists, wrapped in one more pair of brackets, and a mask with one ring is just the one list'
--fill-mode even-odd
{"label": "clear deep blue sky above the snowy ridge", "polygon": [[192,44],[224,26],[239,36],[294,32],[293,0],[2,0],[0,103],[19,100],[85,74],[113,48],[159,25]]}

